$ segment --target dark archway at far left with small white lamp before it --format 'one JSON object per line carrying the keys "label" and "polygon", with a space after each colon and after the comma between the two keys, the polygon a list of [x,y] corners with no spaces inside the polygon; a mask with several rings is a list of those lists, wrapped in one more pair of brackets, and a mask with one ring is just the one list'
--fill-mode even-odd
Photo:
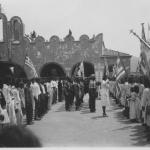
{"label": "dark archway at far left with small white lamp before it", "polygon": [[12,62],[0,61],[0,79],[4,78],[23,78],[26,79],[27,75],[24,69],[18,64]]}

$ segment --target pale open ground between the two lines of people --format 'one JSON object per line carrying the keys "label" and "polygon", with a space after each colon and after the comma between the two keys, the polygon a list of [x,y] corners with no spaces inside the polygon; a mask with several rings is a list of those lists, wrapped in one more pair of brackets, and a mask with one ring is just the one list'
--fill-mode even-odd
{"label": "pale open ground between the two lines of people", "polygon": [[144,127],[126,119],[112,99],[108,117],[102,116],[100,100],[96,113],[90,113],[87,100],[80,111],[66,112],[64,106],[64,102],[57,103],[42,120],[27,126],[44,147],[150,146]]}

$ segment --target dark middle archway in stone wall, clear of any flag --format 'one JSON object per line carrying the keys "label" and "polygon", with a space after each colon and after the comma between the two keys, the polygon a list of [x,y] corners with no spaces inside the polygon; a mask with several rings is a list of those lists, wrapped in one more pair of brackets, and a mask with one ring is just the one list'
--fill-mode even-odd
{"label": "dark middle archway in stone wall, clear of any flag", "polygon": [[66,76],[66,72],[61,65],[52,62],[45,64],[42,67],[40,76],[46,78],[64,78]]}

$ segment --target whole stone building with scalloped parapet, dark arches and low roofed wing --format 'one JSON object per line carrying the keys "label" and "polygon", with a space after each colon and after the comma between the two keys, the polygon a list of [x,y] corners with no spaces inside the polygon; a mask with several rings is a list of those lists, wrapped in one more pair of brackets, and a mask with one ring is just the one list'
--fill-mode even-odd
{"label": "whole stone building with scalloped parapet, dark arches and low roofed wing", "polygon": [[106,63],[111,72],[118,53],[124,65],[130,66],[131,55],[107,49],[102,33],[92,38],[84,34],[79,40],[75,40],[69,30],[63,40],[56,35],[49,40],[42,36],[30,39],[24,34],[24,24],[20,17],[14,16],[8,21],[5,14],[0,13],[0,20],[3,31],[0,41],[0,67],[8,68],[2,69],[6,74],[13,66],[15,77],[30,78],[32,72],[25,65],[26,56],[32,60],[39,77],[49,77],[52,74],[59,77],[73,76],[76,67],[83,61],[85,76],[94,73],[97,80],[101,80]]}

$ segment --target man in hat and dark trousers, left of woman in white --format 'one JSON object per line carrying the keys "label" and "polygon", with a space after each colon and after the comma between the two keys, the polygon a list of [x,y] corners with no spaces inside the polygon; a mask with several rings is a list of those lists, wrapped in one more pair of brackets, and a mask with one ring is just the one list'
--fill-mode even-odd
{"label": "man in hat and dark trousers, left of woman in white", "polygon": [[92,74],[90,81],[89,81],[89,108],[90,112],[95,112],[95,99],[97,97],[96,94],[96,81],[95,81],[95,75]]}

